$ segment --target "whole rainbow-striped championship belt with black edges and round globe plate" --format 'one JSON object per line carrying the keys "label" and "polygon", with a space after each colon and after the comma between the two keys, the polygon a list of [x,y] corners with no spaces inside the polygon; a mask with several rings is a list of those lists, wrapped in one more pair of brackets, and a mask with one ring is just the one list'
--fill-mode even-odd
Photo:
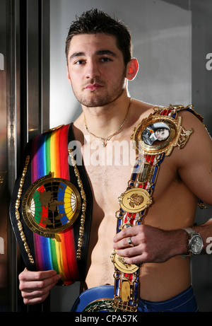
{"label": "whole rainbow-striped championship belt with black edges and round globe plate", "polygon": [[[12,209],[15,206],[13,228],[20,252],[27,255],[27,268],[54,269],[61,275],[62,285],[83,279],[91,216],[91,204],[87,211],[88,180],[69,149],[70,134],[73,139],[67,124],[35,136],[16,203],[13,199],[11,205]],[[92,202],[90,197],[88,200]]]}

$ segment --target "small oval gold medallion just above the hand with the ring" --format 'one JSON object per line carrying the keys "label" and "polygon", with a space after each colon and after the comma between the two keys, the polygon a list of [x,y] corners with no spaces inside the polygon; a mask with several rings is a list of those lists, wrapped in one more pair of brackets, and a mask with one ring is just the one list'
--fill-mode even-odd
{"label": "small oval gold medallion just above the hand with the ring", "polygon": [[119,204],[124,211],[129,213],[139,213],[152,203],[150,194],[141,188],[131,188],[126,190],[119,197]]}

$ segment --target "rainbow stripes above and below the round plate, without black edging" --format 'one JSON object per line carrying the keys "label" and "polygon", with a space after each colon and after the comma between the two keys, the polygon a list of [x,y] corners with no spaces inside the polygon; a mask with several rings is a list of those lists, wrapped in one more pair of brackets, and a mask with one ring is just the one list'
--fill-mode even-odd
{"label": "rainbow stripes above and below the round plate, without black edging", "polygon": [[[54,177],[69,180],[68,132],[69,125],[66,125],[33,139],[32,182],[48,175],[49,171],[54,172]],[[64,285],[79,279],[73,226],[59,233],[59,239],[34,233],[34,247],[37,270],[56,270]]]}

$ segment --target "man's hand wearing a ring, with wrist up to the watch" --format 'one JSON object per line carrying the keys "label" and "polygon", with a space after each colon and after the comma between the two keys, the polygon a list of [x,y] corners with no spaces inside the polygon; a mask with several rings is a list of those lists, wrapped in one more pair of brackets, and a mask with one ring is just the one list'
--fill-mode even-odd
{"label": "man's hand wearing a ring, with wrist up to the watch", "polygon": [[[125,228],[114,236],[114,249],[127,264],[165,262],[187,253],[187,235],[182,230],[164,231],[152,226]],[[129,245],[131,238],[132,245]]]}

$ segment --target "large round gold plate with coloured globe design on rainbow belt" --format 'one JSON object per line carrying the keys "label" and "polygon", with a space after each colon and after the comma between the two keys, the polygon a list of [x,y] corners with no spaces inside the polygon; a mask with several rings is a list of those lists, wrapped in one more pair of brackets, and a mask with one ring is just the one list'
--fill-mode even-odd
{"label": "large round gold plate with coloured globe design on rainbow belt", "polygon": [[36,180],[25,193],[23,218],[35,233],[54,238],[76,221],[81,209],[81,197],[76,187],[52,174]]}

